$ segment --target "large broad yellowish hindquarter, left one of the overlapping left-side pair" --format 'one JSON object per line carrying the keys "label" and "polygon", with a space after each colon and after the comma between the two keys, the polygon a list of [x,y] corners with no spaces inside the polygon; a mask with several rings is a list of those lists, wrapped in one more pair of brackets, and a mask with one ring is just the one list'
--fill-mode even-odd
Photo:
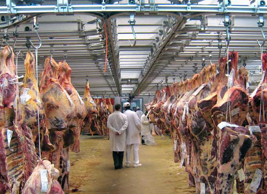
{"label": "large broad yellowish hindquarter, left one of the overlapping left-side pair", "polygon": [[73,126],[74,104],[58,81],[60,66],[50,57],[45,59],[40,81],[40,96],[44,103],[49,130],[65,130]]}

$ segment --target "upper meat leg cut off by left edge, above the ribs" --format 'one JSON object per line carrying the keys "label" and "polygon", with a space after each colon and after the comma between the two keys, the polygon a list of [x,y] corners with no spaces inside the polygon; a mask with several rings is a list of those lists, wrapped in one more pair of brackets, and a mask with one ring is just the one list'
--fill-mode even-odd
{"label": "upper meat leg cut off by left edge, above the ribs", "polygon": [[16,98],[16,66],[14,54],[8,46],[0,52],[0,108],[12,108]]}

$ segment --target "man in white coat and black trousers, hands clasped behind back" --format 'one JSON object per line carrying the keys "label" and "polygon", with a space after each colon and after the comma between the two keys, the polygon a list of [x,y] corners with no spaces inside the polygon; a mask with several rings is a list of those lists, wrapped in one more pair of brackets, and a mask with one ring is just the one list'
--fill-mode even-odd
{"label": "man in white coat and black trousers, hands clasped behind back", "polygon": [[107,121],[115,170],[122,168],[127,126],[127,116],[120,112],[120,104],[116,104],[115,112],[108,116]]}

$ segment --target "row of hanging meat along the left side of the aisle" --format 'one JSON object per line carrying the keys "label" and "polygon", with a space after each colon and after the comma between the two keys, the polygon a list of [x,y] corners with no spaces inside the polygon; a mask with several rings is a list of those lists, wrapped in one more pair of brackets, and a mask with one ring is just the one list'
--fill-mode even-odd
{"label": "row of hanging meat along the left side of the aisle", "polygon": [[14,58],[9,46],[0,52],[0,193],[63,194],[68,151],[80,150],[84,118],[97,114],[97,105],[88,81],[83,99],[73,87],[67,62],[46,58],[38,87],[33,53],[26,55],[23,83]]}

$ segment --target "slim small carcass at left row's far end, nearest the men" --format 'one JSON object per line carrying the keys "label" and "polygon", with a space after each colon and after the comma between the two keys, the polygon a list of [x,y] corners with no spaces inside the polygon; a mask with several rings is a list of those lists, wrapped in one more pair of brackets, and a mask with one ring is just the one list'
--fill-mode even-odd
{"label": "slim small carcass at left row's far end, nearest the men", "polygon": [[97,132],[97,129],[94,127],[94,119],[97,116],[98,110],[97,105],[94,99],[90,94],[90,86],[88,80],[86,80],[86,84],[84,87],[83,93],[83,102],[85,104],[87,115],[83,120],[83,131],[89,132],[91,135]]}

